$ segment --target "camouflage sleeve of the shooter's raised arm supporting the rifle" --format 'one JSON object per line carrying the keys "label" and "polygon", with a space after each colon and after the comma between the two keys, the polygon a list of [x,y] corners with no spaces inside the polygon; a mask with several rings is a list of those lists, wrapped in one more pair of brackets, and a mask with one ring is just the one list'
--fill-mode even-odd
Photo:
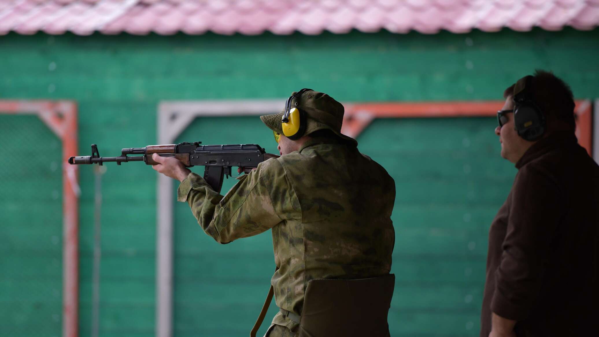
{"label": "camouflage sleeve of the shooter's raised arm supporting the rifle", "polygon": [[265,163],[241,176],[224,197],[201,176],[190,173],[181,182],[177,199],[187,201],[198,224],[219,243],[267,231],[282,221],[277,214],[280,206],[271,199],[271,186],[287,182],[285,174],[270,174]]}

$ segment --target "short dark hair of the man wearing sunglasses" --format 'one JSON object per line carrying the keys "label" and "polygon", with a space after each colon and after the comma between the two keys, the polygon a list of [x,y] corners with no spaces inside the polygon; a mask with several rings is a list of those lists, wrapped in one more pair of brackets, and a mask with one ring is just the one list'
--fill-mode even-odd
{"label": "short dark hair of the man wearing sunglasses", "polygon": [[[536,70],[531,83],[533,87],[531,97],[547,121],[559,119],[574,130],[576,128],[574,97],[570,86],[550,71],[544,70]],[[512,96],[515,86],[516,83],[507,88],[503,92],[503,97]]]}

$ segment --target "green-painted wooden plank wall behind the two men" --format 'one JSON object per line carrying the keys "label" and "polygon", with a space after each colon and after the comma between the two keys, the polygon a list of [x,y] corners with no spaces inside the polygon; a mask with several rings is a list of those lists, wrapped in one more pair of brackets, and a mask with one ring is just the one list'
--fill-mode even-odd
{"label": "green-painted wooden plank wall behind the two men", "polygon": [[[156,110],[162,100],[282,98],[283,106],[285,97],[304,87],[342,102],[499,100],[504,88],[535,68],[563,77],[577,98],[599,97],[598,52],[596,29],[316,37],[8,34],[0,37],[0,99],[76,101],[79,154],[87,155],[89,145],[96,143],[100,154],[108,156],[156,143]],[[359,149],[386,167],[397,185],[397,285],[389,314],[393,336],[477,335],[486,234],[516,173],[499,157],[494,127],[493,118],[378,119],[358,137]],[[40,133],[38,127],[26,129]],[[3,145],[18,149],[28,137],[3,138]],[[196,119],[179,140],[275,149],[270,131],[250,117]],[[50,143],[38,142],[36,149]],[[156,174],[140,163],[106,167],[100,333],[154,336]],[[48,184],[60,185],[59,176],[49,179]],[[8,181],[31,198],[49,188],[45,183],[20,185],[21,180],[27,177],[4,176],[0,185]],[[80,335],[89,336],[91,167],[81,167],[80,184]],[[231,184],[226,181],[223,190]],[[6,199],[1,200],[0,207],[7,208]],[[246,334],[274,269],[270,232],[221,246],[201,232],[186,204],[176,203],[175,210],[175,336]],[[47,266],[25,257],[20,246],[7,244],[14,237],[46,240],[29,234],[36,230],[34,215],[47,216],[37,208],[28,215],[6,212],[0,217],[2,270],[19,264]],[[53,215],[52,221],[59,224],[57,218]],[[44,230],[55,228],[60,237],[59,227]],[[56,254],[54,248],[44,249]],[[59,281],[59,268],[44,269],[40,277]],[[18,288],[19,277],[5,273],[0,282],[17,284],[17,293],[26,291]],[[50,302],[29,303],[0,292],[0,305],[30,305],[27,324],[49,331],[60,323],[38,315],[42,311],[37,308]],[[3,330],[25,329],[18,317],[2,317],[13,317],[2,320]]]}

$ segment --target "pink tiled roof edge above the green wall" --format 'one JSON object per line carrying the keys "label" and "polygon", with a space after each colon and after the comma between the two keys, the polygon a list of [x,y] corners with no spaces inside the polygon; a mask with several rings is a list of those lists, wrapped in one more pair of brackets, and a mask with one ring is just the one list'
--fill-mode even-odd
{"label": "pink tiled roof edge above the green wall", "polygon": [[599,0],[0,0],[0,35],[434,34],[535,26],[590,30],[598,23]]}

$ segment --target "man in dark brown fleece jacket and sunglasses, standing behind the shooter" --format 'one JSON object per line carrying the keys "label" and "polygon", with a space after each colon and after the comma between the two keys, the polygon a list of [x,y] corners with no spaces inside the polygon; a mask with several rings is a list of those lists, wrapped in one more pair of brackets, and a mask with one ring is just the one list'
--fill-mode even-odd
{"label": "man in dark brown fleece jacket and sunglasses, standing behind the shooter", "polygon": [[495,134],[518,173],[489,230],[480,337],[599,336],[599,166],[572,92],[537,71],[504,98]]}

